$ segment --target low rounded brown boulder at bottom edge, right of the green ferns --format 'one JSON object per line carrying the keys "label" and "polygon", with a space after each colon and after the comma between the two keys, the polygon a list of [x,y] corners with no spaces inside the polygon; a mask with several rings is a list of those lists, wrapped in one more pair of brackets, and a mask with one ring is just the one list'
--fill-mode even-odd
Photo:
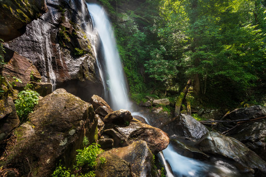
{"label": "low rounded brown boulder at bottom edge, right of the green ferns", "polygon": [[[101,164],[101,157],[106,159],[106,163]],[[102,153],[97,164],[96,177],[131,177],[130,164],[111,152]]]}

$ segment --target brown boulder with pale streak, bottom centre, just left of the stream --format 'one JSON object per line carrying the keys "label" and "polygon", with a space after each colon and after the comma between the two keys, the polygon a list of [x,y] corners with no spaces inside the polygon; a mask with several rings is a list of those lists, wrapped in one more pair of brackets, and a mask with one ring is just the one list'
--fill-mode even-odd
{"label": "brown boulder with pale streak, bottom centre, just left of the stream", "polygon": [[136,141],[123,148],[113,148],[110,152],[127,161],[136,177],[153,177],[155,169],[152,151],[145,141]]}

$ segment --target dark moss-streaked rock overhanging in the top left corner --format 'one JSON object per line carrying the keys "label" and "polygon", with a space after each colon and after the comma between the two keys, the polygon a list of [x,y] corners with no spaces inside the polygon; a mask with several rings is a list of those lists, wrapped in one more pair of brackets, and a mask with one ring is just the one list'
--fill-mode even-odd
{"label": "dark moss-streaked rock overhanging in the top left corner", "polygon": [[8,41],[22,35],[26,25],[45,12],[45,0],[2,0],[0,39]]}

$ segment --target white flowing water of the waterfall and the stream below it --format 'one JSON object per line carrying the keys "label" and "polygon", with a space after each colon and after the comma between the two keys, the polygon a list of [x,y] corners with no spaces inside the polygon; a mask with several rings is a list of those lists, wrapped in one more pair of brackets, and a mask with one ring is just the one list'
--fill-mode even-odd
{"label": "white flowing water of the waterfall and the stream below it", "polygon": [[[127,109],[129,111],[132,111],[131,102],[128,98],[128,90],[123,73],[122,64],[116,48],[114,31],[112,29],[110,21],[105,13],[105,10],[101,6],[97,4],[87,4],[87,8],[93,20],[94,29],[89,33],[94,36],[93,41],[91,41],[91,43],[94,48],[96,57],[98,56],[98,54],[94,44],[94,39],[96,36],[95,33],[98,34],[102,43],[101,50],[103,51],[104,66],[106,67],[104,67],[105,71],[101,71],[100,74],[103,75],[101,76],[102,80],[106,82],[106,91],[109,92],[111,98],[111,107],[113,108],[113,110]],[[97,62],[98,64],[100,64],[99,61]],[[101,66],[99,67],[99,69],[102,70]],[[105,99],[107,98],[105,97]],[[132,113],[132,115],[144,117],[140,113]],[[221,165],[209,165],[204,162],[179,155],[177,152],[175,152],[174,148],[171,145],[169,145],[168,148],[163,150],[163,154],[159,153],[159,157],[162,159],[162,163],[165,166],[167,177],[235,176],[235,173],[233,172],[234,169],[231,170]],[[166,161],[169,163],[171,168],[168,167]]]}

